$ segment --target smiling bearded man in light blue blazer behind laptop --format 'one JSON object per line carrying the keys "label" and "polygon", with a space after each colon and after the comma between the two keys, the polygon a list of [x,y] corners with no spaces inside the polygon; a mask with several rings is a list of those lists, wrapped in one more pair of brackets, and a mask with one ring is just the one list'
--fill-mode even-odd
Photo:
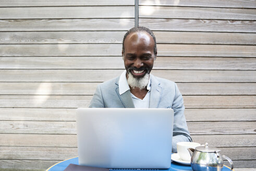
{"label": "smiling bearded man in light blue blazer behind laptop", "polygon": [[176,143],[191,141],[184,116],[183,98],[177,84],[150,75],[157,48],[153,32],[145,27],[130,29],[124,36],[121,76],[97,86],[89,107],[173,108],[173,152]]}

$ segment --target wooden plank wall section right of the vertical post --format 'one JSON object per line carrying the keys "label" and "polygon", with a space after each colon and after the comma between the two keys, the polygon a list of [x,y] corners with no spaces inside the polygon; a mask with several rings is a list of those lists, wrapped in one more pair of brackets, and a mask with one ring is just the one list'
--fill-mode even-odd
{"label": "wooden plank wall section right of the vertical post", "polygon": [[177,82],[193,141],[217,146],[236,168],[256,167],[255,8],[255,1],[139,1],[139,25],[159,43],[154,73]]}

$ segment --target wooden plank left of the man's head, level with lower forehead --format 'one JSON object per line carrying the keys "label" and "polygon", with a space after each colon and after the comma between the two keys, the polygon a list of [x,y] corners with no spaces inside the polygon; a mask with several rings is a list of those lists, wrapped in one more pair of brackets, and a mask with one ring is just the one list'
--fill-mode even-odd
{"label": "wooden plank left of the man's head, level with lower forehead", "polygon": [[[0,45],[0,56],[120,56],[121,44]],[[36,51],[35,51],[36,50]],[[100,50],[100,51],[99,51]]]}

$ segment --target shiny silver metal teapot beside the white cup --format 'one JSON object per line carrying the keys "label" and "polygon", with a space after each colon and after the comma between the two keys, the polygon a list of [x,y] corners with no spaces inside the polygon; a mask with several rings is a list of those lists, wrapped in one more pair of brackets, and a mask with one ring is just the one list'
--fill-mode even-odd
{"label": "shiny silver metal teapot beside the white cup", "polygon": [[191,167],[193,171],[221,171],[223,168],[223,158],[230,163],[230,170],[233,169],[233,162],[229,157],[221,155],[216,148],[210,148],[208,143],[197,146],[196,149],[188,149],[191,155]]}

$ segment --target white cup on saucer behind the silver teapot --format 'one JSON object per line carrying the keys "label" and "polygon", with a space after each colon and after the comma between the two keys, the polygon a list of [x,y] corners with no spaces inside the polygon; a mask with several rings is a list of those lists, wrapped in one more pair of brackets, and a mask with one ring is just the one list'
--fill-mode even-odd
{"label": "white cup on saucer behind the silver teapot", "polygon": [[196,148],[197,146],[200,146],[201,144],[197,142],[178,142],[177,143],[177,152],[179,154],[179,157],[183,161],[190,161],[191,155],[188,152],[188,148]]}

